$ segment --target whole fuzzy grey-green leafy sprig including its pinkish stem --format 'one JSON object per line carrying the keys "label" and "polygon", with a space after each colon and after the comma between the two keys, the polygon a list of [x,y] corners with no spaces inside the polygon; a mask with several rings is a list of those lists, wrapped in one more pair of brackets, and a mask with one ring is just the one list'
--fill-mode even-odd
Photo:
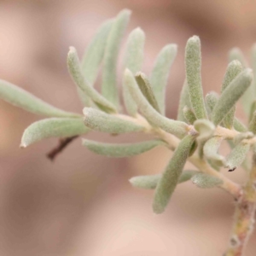
{"label": "whole fuzzy grey-green leafy sprig including its pinkish stem", "polygon": [[[76,137],[91,130],[122,134],[144,132],[152,140],[140,143],[109,144],[83,139],[83,146],[96,154],[131,157],[155,147],[174,151],[161,174],[132,177],[134,187],[154,189],[153,210],[164,212],[179,183],[191,180],[201,189],[221,188],[236,199],[235,224],[230,245],[224,255],[241,255],[250,231],[256,205],[256,48],[253,47],[253,70],[240,49],[230,50],[230,64],[218,93],[204,98],[201,83],[201,41],[189,38],[185,49],[186,77],[181,89],[177,120],[166,117],[165,90],[170,68],[177,55],[177,45],[160,50],[153,70],[142,72],[145,34],[141,28],[128,36],[123,61],[122,89],[126,114],[119,105],[117,61],[125,28],[131,12],[123,10],[105,22],[92,38],[82,61],[74,47],[67,55],[67,67],[84,104],[84,117],[49,105],[14,84],[0,80],[0,97],[25,109],[49,117],[30,125],[24,131],[21,147],[44,138]],[[94,88],[102,65],[102,92]],[[241,99],[248,125],[236,118],[236,103]],[[84,121],[83,121],[84,118]],[[227,156],[218,153],[222,143],[230,144]],[[62,147],[63,148],[63,147]],[[253,154],[250,169],[245,163]],[[191,162],[194,171],[183,170]],[[219,172],[221,167],[234,171],[244,167],[249,175],[245,186],[232,182]],[[236,242],[234,242],[236,236]]]}

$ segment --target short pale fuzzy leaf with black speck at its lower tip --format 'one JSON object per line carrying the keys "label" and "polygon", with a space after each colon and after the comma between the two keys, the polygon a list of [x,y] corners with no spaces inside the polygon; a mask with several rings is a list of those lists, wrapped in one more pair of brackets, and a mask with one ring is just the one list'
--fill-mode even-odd
{"label": "short pale fuzzy leaf with black speck at its lower tip", "polygon": [[247,157],[249,149],[249,144],[242,142],[237,144],[236,147],[231,150],[230,154],[226,158],[226,167],[233,171],[238,166],[241,166],[241,163]]}

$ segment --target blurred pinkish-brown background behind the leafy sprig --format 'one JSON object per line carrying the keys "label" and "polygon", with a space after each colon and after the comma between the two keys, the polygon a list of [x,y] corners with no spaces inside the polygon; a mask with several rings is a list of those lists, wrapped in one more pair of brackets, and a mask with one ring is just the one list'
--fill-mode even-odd
{"label": "blurred pinkish-brown background behind the leafy sprig", "polygon": [[[67,73],[68,47],[75,46],[83,55],[102,21],[124,8],[132,10],[127,33],[137,26],[146,32],[143,72],[151,71],[164,45],[178,44],[166,91],[171,118],[177,114],[189,37],[196,34],[201,38],[205,93],[219,91],[229,49],[240,47],[249,61],[256,42],[253,0],[1,0],[1,79],[56,107],[81,113]],[[241,115],[240,110],[238,113]],[[201,193],[184,183],[167,211],[155,215],[153,191],[134,189],[128,179],[162,172],[171,157],[169,151],[155,148],[131,159],[113,160],[90,153],[77,139],[52,163],[45,155],[57,144],[55,139],[19,148],[22,132],[38,119],[0,101],[1,255],[222,255],[234,210],[230,195],[220,189]],[[99,133],[88,137],[113,141]],[[114,141],[137,139],[143,137],[121,136]],[[243,181],[242,170],[222,172]],[[255,238],[249,241],[247,256],[255,255]]]}

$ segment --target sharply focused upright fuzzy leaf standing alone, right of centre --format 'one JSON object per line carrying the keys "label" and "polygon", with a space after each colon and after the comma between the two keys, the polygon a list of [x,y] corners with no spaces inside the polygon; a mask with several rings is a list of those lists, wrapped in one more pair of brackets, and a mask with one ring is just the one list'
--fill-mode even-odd
{"label": "sharply focused upright fuzzy leaf standing alone, right of centre", "polygon": [[197,36],[189,38],[185,50],[186,79],[189,85],[189,98],[196,119],[207,119],[201,85],[201,42]]}

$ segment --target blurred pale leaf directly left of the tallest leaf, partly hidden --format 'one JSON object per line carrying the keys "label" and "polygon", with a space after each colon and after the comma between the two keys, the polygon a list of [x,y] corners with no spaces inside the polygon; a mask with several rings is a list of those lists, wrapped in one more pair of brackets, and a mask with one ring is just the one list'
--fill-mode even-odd
{"label": "blurred pale leaf directly left of the tallest leaf, partly hidden", "polygon": [[[84,78],[86,78],[92,86],[95,84],[96,76],[102,63],[104,49],[112,23],[113,20],[107,20],[102,24],[102,26],[98,28],[95,36],[91,39],[88,47],[84,52],[81,63],[82,72],[84,74]],[[79,87],[77,87],[77,89],[84,107],[90,107],[90,97],[88,97]]]}

